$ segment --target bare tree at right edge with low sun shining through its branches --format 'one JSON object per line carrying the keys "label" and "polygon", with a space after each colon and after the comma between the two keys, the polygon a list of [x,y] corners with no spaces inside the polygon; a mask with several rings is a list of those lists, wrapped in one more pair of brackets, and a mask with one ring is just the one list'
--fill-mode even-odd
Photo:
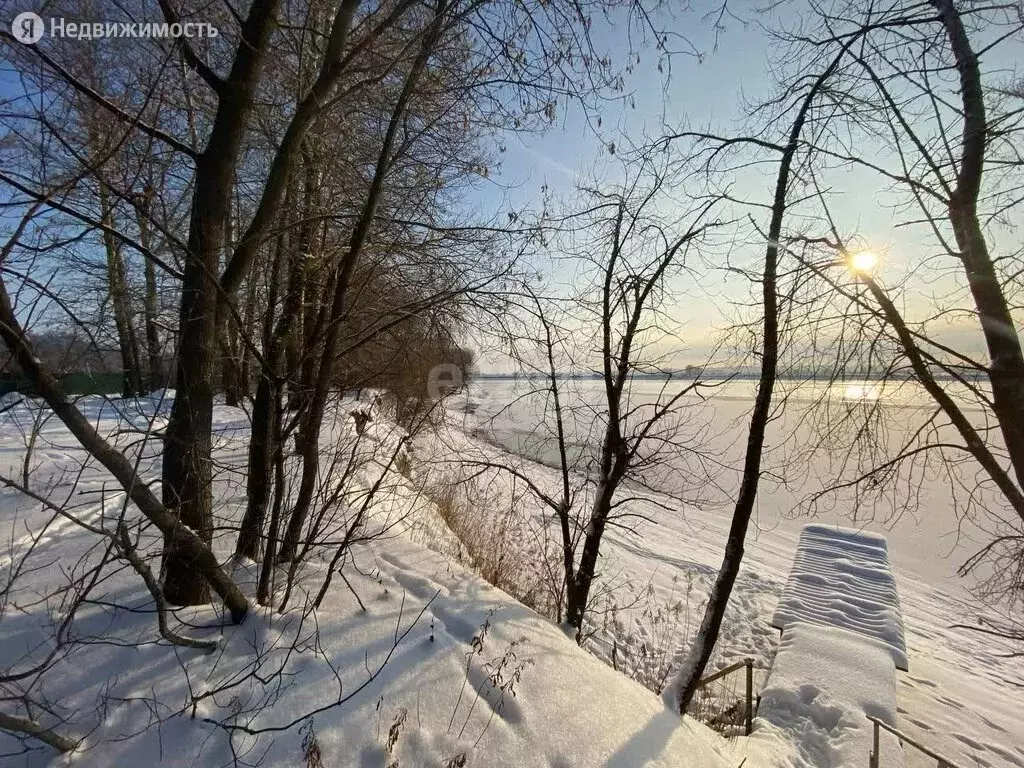
{"label": "bare tree at right edge with low sun shining through its branches", "polygon": [[[884,402],[822,418],[831,434],[862,439],[838,464],[839,479],[808,504],[853,493],[858,505],[899,514],[916,503],[912,478],[939,468],[961,519],[990,537],[963,572],[984,563],[979,572],[993,597],[1016,600],[1024,572],[1024,357],[1015,318],[1021,251],[1012,231],[1021,121],[1019,99],[986,61],[1019,39],[1021,18],[1009,6],[937,0],[885,12],[858,7],[843,19],[821,12],[812,22],[780,36],[791,54],[844,62],[823,96],[834,112],[802,141],[801,212],[816,223],[788,241],[804,281],[805,325],[794,338],[808,344],[816,336],[840,375],[867,372],[889,391],[913,382],[922,398],[902,430],[886,420]],[[885,187],[894,231],[905,232],[892,263],[885,244],[844,220],[830,189],[835,168],[859,169]],[[936,286],[929,298],[923,285]],[[840,313],[845,322],[825,330],[825,317]],[[903,435],[898,442],[881,439],[887,426]]]}

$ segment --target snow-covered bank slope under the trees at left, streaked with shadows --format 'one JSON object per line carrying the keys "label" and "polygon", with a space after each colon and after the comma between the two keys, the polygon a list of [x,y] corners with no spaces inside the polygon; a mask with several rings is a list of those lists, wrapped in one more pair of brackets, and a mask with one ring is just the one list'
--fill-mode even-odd
{"label": "snow-covered bank slope under the trees at left, streaked with shadows", "polygon": [[[146,477],[157,476],[159,442],[140,444],[125,427],[161,424],[166,399],[82,404],[101,431],[134,444]],[[0,472],[19,472],[26,444],[19,427],[38,407],[28,401],[0,419]],[[217,524],[229,526],[244,503],[237,469],[244,466],[247,419],[225,407],[215,419],[222,470],[215,510]],[[386,425],[379,429],[384,439]],[[45,421],[34,456],[34,487],[41,493],[67,499],[94,526],[121,514],[124,495],[57,420]],[[357,482],[372,481],[369,469],[364,474]],[[213,653],[160,640],[139,580],[126,568],[104,571],[94,602],[75,615],[72,636],[79,642],[58,648],[31,692],[50,712],[31,714],[83,739],[67,761],[77,766],[291,767],[303,765],[304,750],[315,744],[332,768],[734,768],[720,754],[726,744],[718,734],[666,712],[656,695],[581,650],[550,622],[413,541],[451,547],[429,501],[397,473],[389,488],[374,516],[408,524],[389,522],[387,537],[357,547],[345,571],[352,590],[336,580],[315,616],[256,608],[230,627],[215,607],[179,611],[187,626],[177,630],[217,639]],[[137,520],[130,507],[127,515]],[[31,666],[54,647],[52,630],[63,614],[47,595],[66,578],[62,568],[81,572],[96,564],[103,548],[95,544],[103,540],[11,488],[0,492],[0,537],[8,543],[3,584],[19,574],[0,612],[2,673],[8,665],[24,669],[26,654]],[[230,536],[215,540],[225,561],[232,543]],[[143,534],[142,547],[155,555],[159,539]],[[311,562],[300,591],[315,590],[325,568]],[[253,571],[252,563],[234,570],[250,592]],[[254,664],[259,679],[248,675]],[[2,711],[26,714],[16,709],[9,700]],[[36,748],[24,752],[0,732],[4,768],[65,764],[50,748]]]}

